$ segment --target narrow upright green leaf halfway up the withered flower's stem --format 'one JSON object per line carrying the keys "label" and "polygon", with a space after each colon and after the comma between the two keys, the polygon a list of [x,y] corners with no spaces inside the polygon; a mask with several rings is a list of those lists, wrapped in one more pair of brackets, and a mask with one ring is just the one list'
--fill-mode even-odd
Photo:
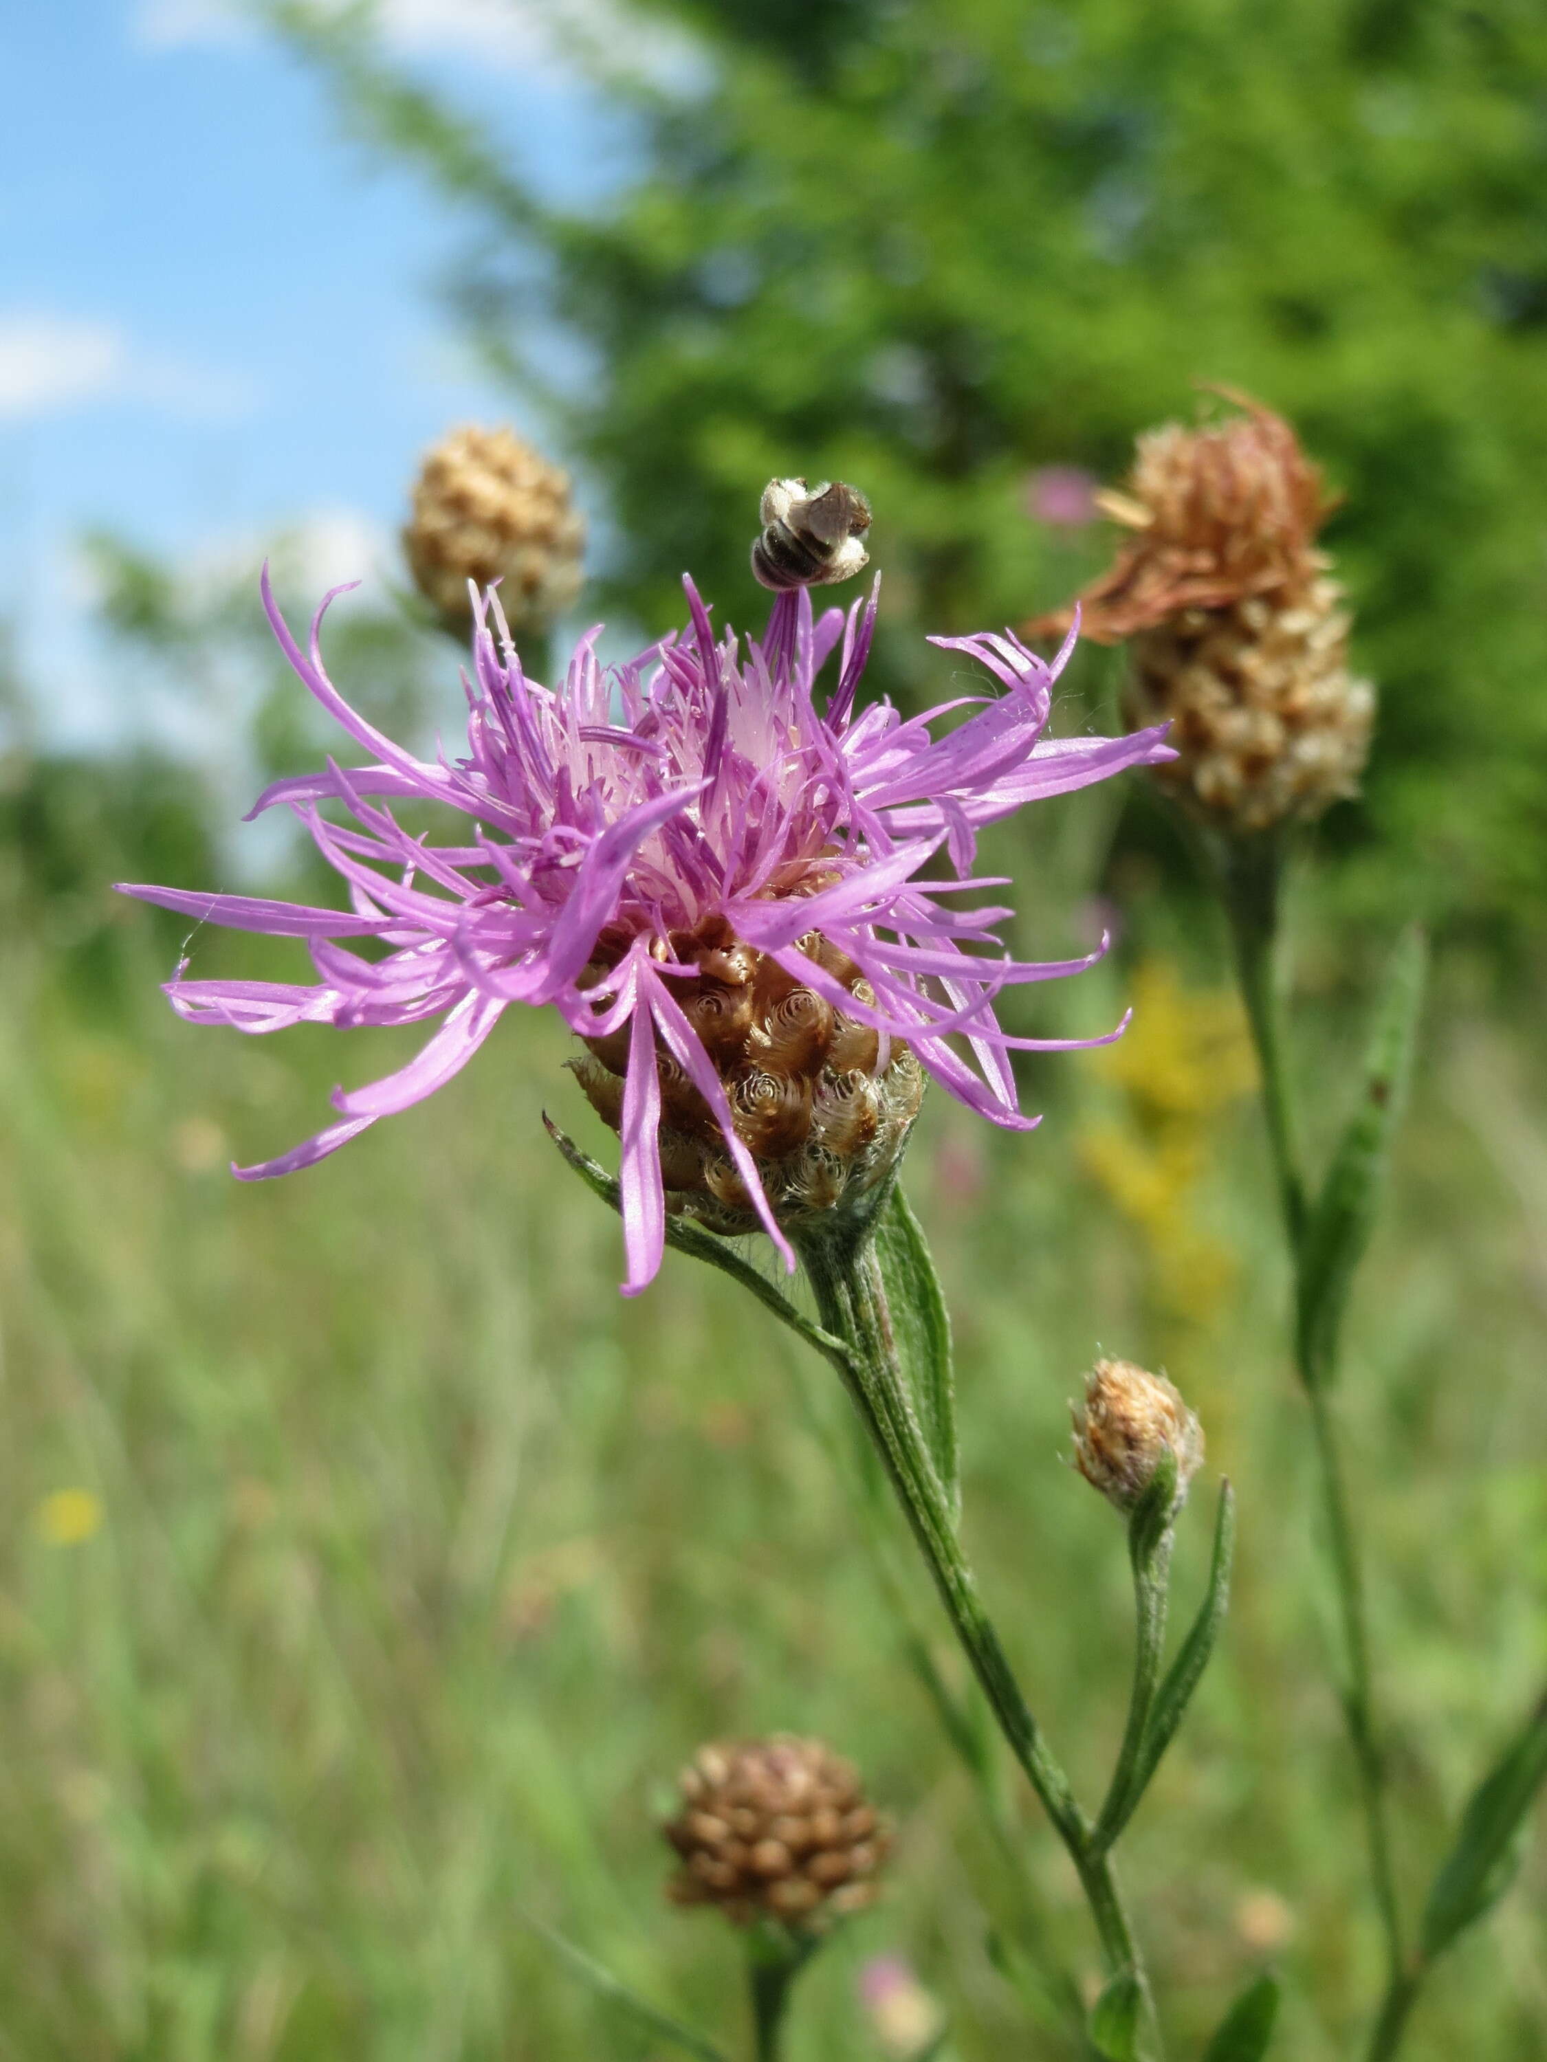
{"label": "narrow upright green leaf halfway up the withered flower's stem", "polygon": [[1297,1353],[1302,1375],[1312,1388],[1332,1373],[1353,1272],[1376,1225],[1413,1064],[1425,965],[1427,942],[1413,926],[1403,932],[1386,975],[1359,1107],[1343,1132],[1306,1225],[1299,1250]]}

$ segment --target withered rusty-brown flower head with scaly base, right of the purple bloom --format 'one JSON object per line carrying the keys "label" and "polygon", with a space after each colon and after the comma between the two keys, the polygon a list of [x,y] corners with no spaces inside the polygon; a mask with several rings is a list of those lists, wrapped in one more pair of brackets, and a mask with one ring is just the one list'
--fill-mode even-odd
{"label": "withered rusty-brown flower head with scaly base, right of the purple bloom", "polygon": [[1320,472],[1283,417],[1227,398],[1246,412],[1139,439],[1122,491],[1099,497],[1134,536],[1079,602],[1087,637],[1128,639],[1128,722],[1172,724],[1178,757],[1155,777],[1252,833],[1357,794],[1376,695],[1349,674],[1343,590],[1314,548],[1335,505]]}

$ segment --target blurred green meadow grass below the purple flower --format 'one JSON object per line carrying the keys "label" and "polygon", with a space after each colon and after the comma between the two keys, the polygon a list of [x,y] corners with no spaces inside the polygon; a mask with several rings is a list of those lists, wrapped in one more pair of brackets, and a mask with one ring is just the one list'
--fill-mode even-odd
{"label": "blurred green meadow grass below the purple flower", "polygon": [[[1064,872],[1093,825],[1071,810]],[[1318,924],[1310,909],[1308,1078],[1326,1118],[1357,1021]],[[1141,901],[1134,936],[1209,973],[1194,913]],[[524,1911],[738,2052],[736,1957],[712,1920],[664,1907],[654,1819],[699,1738],[771,1728],[856,1755],[899,1823],[893,1891],[809,1977],[794,2062],[879,2054],[854,1975],[889,1949],[949,2002],[963,2062],[1052,2054],[986,1951],[1017,1903],[897,1658],[833,1466],[842,1398],[679,1256],[617,1297],[617,1225],[538,1124],[549,1107],[606,1151],[557,1023],[507,1021],[433,1103],[241,1188],[233,1153],[311,1130],[332,1083],[384,1070],[396,1041],[179,1025],[155,992],[175,934],[130,905],[89,949],[60,942],[19,918],[0,946],[0,2058],[662,2056]],[[200,942],[200,971],[254,951]],[[1060,1008],[1110,1021],[1130,979],[1104,969]],[[1349,1351],[1409,1885],[1547,1648],[1528,1033],[1448,963]],[[1378,1955],[1254,1116],[1215,1120],[1198,1204],[1233,1291],[1178,1332],[1085,1171],[1112,1109],[1099,1066],[1044,1066],[1044,1095],[1029,1140],[934,1095],[910,1153],[957,1320],[972,1546],[1091,1796],[1126,1693],[1126,1567],[1110,1511],[1060,1466],[1064,1404],[1097,1344],[1167,1359],[1211,1478],[1240,1487],[1242,1555],[1126,1876],[1178,2054],[1271,1959],[1289,1986],[1277,2052],[1345,2056]],[[101,1507],[74,1542],[50,1536],[68,1489]],[[1205,1540],[1200,1501],[1184,1600]],[[916,1600],[939,1635],[922,1579]],[[1089,1977],[1066,1864],[1023,1817],[1048,1942]],[[1547,2050],[1543,1891],[1537,1845],[1436,1980],[1413,2062]]]}

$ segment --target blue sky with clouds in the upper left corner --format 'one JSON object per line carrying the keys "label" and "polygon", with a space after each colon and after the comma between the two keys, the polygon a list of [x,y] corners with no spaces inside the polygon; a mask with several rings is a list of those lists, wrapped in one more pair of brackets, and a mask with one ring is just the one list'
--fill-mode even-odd
{"label": "blue sky with clouds in the upper left corner", "polygon": [[[68,656],[62,734],[113,720],[83,530],[258,553],[320,516],[355,561],[425,441],[512,414],[435,301],[474,223],[349,142],[225,4],[21,0],[0,27],[0,614],[33,678]],[[545,35],[545,4],[578,0],[384,4],[394,52],[551,192],[621,175],[623,134]]]}

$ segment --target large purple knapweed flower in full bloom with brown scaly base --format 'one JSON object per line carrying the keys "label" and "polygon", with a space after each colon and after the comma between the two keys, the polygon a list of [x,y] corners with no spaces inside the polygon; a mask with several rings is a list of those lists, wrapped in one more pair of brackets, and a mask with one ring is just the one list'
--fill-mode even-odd
{"label": "large purple knapweed flower in full bloom with brown scaly base", "polygon": [[[978,825],[1170,757],[1161,730],[1046,738],[1068,645],[1048,666],[1009,633],[932,639],[1000,693],[910,720],[887,701],[856,709],[875,590],[821,619],[804,590],[780,594],[743,656],[685,588],[691,633],[602,668],[590,631],[559,689],[524,676],[491,594],[464,678],[466,757],[423,761],[328,680],[318,633],[332,594],[303,652],[264,573],[285,656],[371,763],[276,781],[254,814],[295,810],[351,907],[124,893],[307,942],[316,984],[190,979],[184,961],[167,994],[190,1023],[441,1023],[398,1072],[336,1091],[336,1124],[233,1169],[241,1179],[314,1165],[450,1080],[512,1002],[553,1004],[588,1045],[586,1093],[621,1132],[625,1293],[637,1293],[660,1266],[668,1206],[716,1229],[761,1223],[792,1266],[786,1231],[895,1163],[920,1066],[996,1124],[1031,1128],[1011,1050],[1104,1043],[1011,1037],[994,1021],[1005,986],[1075,973],[1101,946],[1046,965],[986,957],[972,949],[998,946],[992,926],[1011,911],[959,897],[996,885],[969,878]],[[953,709],[974,713],[936,736]],[[396,800],[446,802],[470,827],[431,843],[402,829]],[[936,856],[949,874],[924,872]]]}

